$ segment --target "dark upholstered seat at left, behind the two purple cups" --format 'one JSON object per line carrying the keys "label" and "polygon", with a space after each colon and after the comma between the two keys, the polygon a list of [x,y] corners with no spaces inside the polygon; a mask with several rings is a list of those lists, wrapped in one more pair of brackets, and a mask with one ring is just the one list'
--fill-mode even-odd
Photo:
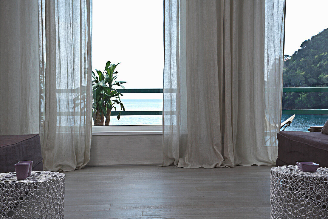
{"label": "dark upholstered seat at left, behind the two purple cups", "polygon": [[0,173],[15,172],[21,160],[33,160],[33,171],[43,170],[39,134],[0,135]]}

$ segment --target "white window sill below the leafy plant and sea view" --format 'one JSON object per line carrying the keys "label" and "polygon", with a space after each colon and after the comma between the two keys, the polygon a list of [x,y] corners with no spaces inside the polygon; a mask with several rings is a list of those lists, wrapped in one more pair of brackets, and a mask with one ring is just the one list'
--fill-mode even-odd
{"label": "white window sill below the leafy plant and sea view", "polygon": [[162,134],[162,126],[92,126],[92,135]]}

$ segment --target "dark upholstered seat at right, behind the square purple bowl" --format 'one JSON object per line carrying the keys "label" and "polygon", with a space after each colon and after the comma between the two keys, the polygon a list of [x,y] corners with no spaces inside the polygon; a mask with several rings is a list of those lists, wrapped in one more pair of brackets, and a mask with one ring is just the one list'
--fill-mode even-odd
{"label": "dark upholstered seat at right, behind the square purple bowl", "polygon": [[328,135],[321,132],[288,132],[277,134],[277,166],[296,165],[296,161],[318,163],[328,167]]}

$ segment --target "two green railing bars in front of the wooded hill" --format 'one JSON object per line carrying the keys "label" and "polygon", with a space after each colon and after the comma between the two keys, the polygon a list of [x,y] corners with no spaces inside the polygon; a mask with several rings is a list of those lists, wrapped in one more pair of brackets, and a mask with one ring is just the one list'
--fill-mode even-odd
{"label": "two green railing bars in front of the wooded hill", "polygon": [[[282,92],[328,92],[328,87],[283,87]],[[282,114],[328,114],[328,109],[283,109]]]}

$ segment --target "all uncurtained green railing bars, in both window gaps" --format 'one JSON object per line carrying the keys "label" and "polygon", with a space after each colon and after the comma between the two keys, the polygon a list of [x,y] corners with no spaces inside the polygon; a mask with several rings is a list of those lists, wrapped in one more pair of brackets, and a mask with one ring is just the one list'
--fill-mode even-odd
{"label": "all uncurtained green railing bars, in both window gaps", "polygon": [[[162,88],[117,89],[121,93],[163,93]],[[328,87],[283,87],[282,92],[328,92]],[[327,103],[328,106],[328,103]],[[122,111],[121,115],[162,115],[162,111]],[[328,109],[283,109],[282,114],[328,114]],[[111,115],[118,115],[112,111]]]}

